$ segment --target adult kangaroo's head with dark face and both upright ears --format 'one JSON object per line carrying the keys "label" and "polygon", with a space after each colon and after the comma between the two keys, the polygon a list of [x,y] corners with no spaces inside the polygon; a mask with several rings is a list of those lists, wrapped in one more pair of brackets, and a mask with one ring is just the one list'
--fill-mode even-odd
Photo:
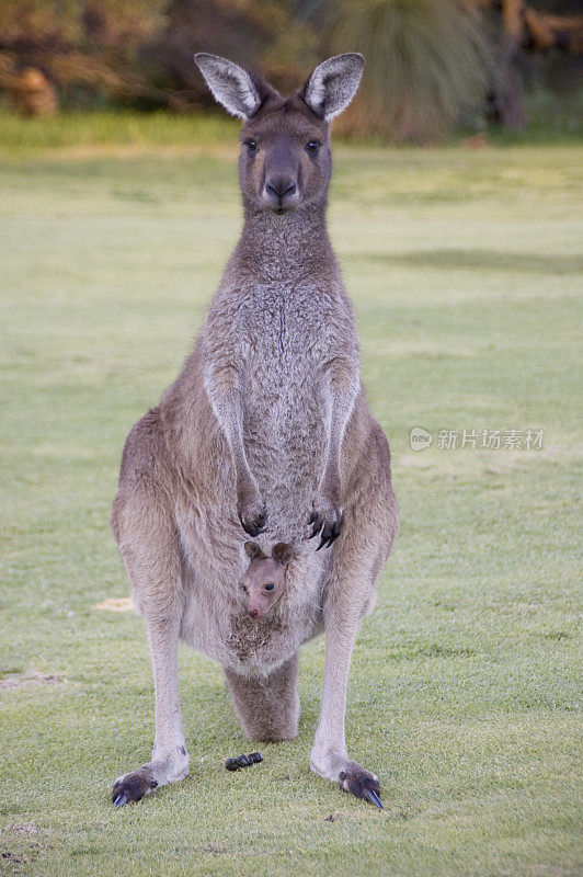
{"label": "adult kangaroo's head with dark face and both upright ears", "polygon": [[329,58],[287,99],[226,58],[198,53],[195,60],[216,100],[244,122],[239,180],[245,204],[284,215],[323,201],[332,171],[329,123],[352,101],[363,56]]}

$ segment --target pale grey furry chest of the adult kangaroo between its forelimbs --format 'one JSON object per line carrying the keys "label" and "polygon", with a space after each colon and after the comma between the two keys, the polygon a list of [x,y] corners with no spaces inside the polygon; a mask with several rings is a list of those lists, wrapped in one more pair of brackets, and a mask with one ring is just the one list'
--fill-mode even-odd
{"label": "pale grey furry chest of the adult kangaroo between its forelimbs", "polygon": [[[250,468],[272,515],[310,509],[327,448],[322,368],[333,356],[329,298],[310,286],[261,286],[242,309],[238,352]],[[275,520],[273,520],[275,523]]]}

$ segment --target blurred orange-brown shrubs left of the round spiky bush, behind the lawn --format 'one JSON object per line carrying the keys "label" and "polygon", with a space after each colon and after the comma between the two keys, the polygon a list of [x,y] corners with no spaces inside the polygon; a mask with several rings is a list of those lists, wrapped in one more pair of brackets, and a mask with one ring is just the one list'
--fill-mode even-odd
{"label": "blurred orange-brown shrubs left of the round spiky bush, behind the lawn", "polygon": [[141,106],[190,110],[212,99],[197,50],[260,67],[284,90],[313,59],[293,0],[0,0],[0,87],[35,68],[69,99],[81,88]]}

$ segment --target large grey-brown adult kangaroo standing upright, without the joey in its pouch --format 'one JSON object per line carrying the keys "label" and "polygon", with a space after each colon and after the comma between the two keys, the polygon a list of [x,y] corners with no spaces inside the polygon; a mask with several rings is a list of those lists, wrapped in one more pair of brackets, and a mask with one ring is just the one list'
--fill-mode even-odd
{"label": "large grey-brown adult kangaroo standing upright, without the joey in its pouch", "polygon": [[[297,733],[299,649],[325,631],[311,768],[380,807],[377,777],[347,756],[344,716],[358,620],[398,509],[325,227],[329,122],[352,100],[363,58],[330,58],[287,100],[229,60],[196,62],[244,121],[244,226],[182,374],[124,448],[112,527],[148,628],[156,740],[113,802],[188,773],[179,637],[224,667],[249,737],[275,741]],[[241,589],[249,536],[266,556],[293,546],[285,593],[261,619]]]}

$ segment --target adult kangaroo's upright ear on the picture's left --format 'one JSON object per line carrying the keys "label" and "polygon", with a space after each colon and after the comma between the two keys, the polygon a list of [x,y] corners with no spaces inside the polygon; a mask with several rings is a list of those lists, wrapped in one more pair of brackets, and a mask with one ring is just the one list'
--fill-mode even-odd
{"label": "adult kangaroo's upright ear on the picture's left", "polygon": [[267,98],[279,96],[266,82],[227,58],[198,52],[194,60],[214,98],[233,116],[248,119]]}

